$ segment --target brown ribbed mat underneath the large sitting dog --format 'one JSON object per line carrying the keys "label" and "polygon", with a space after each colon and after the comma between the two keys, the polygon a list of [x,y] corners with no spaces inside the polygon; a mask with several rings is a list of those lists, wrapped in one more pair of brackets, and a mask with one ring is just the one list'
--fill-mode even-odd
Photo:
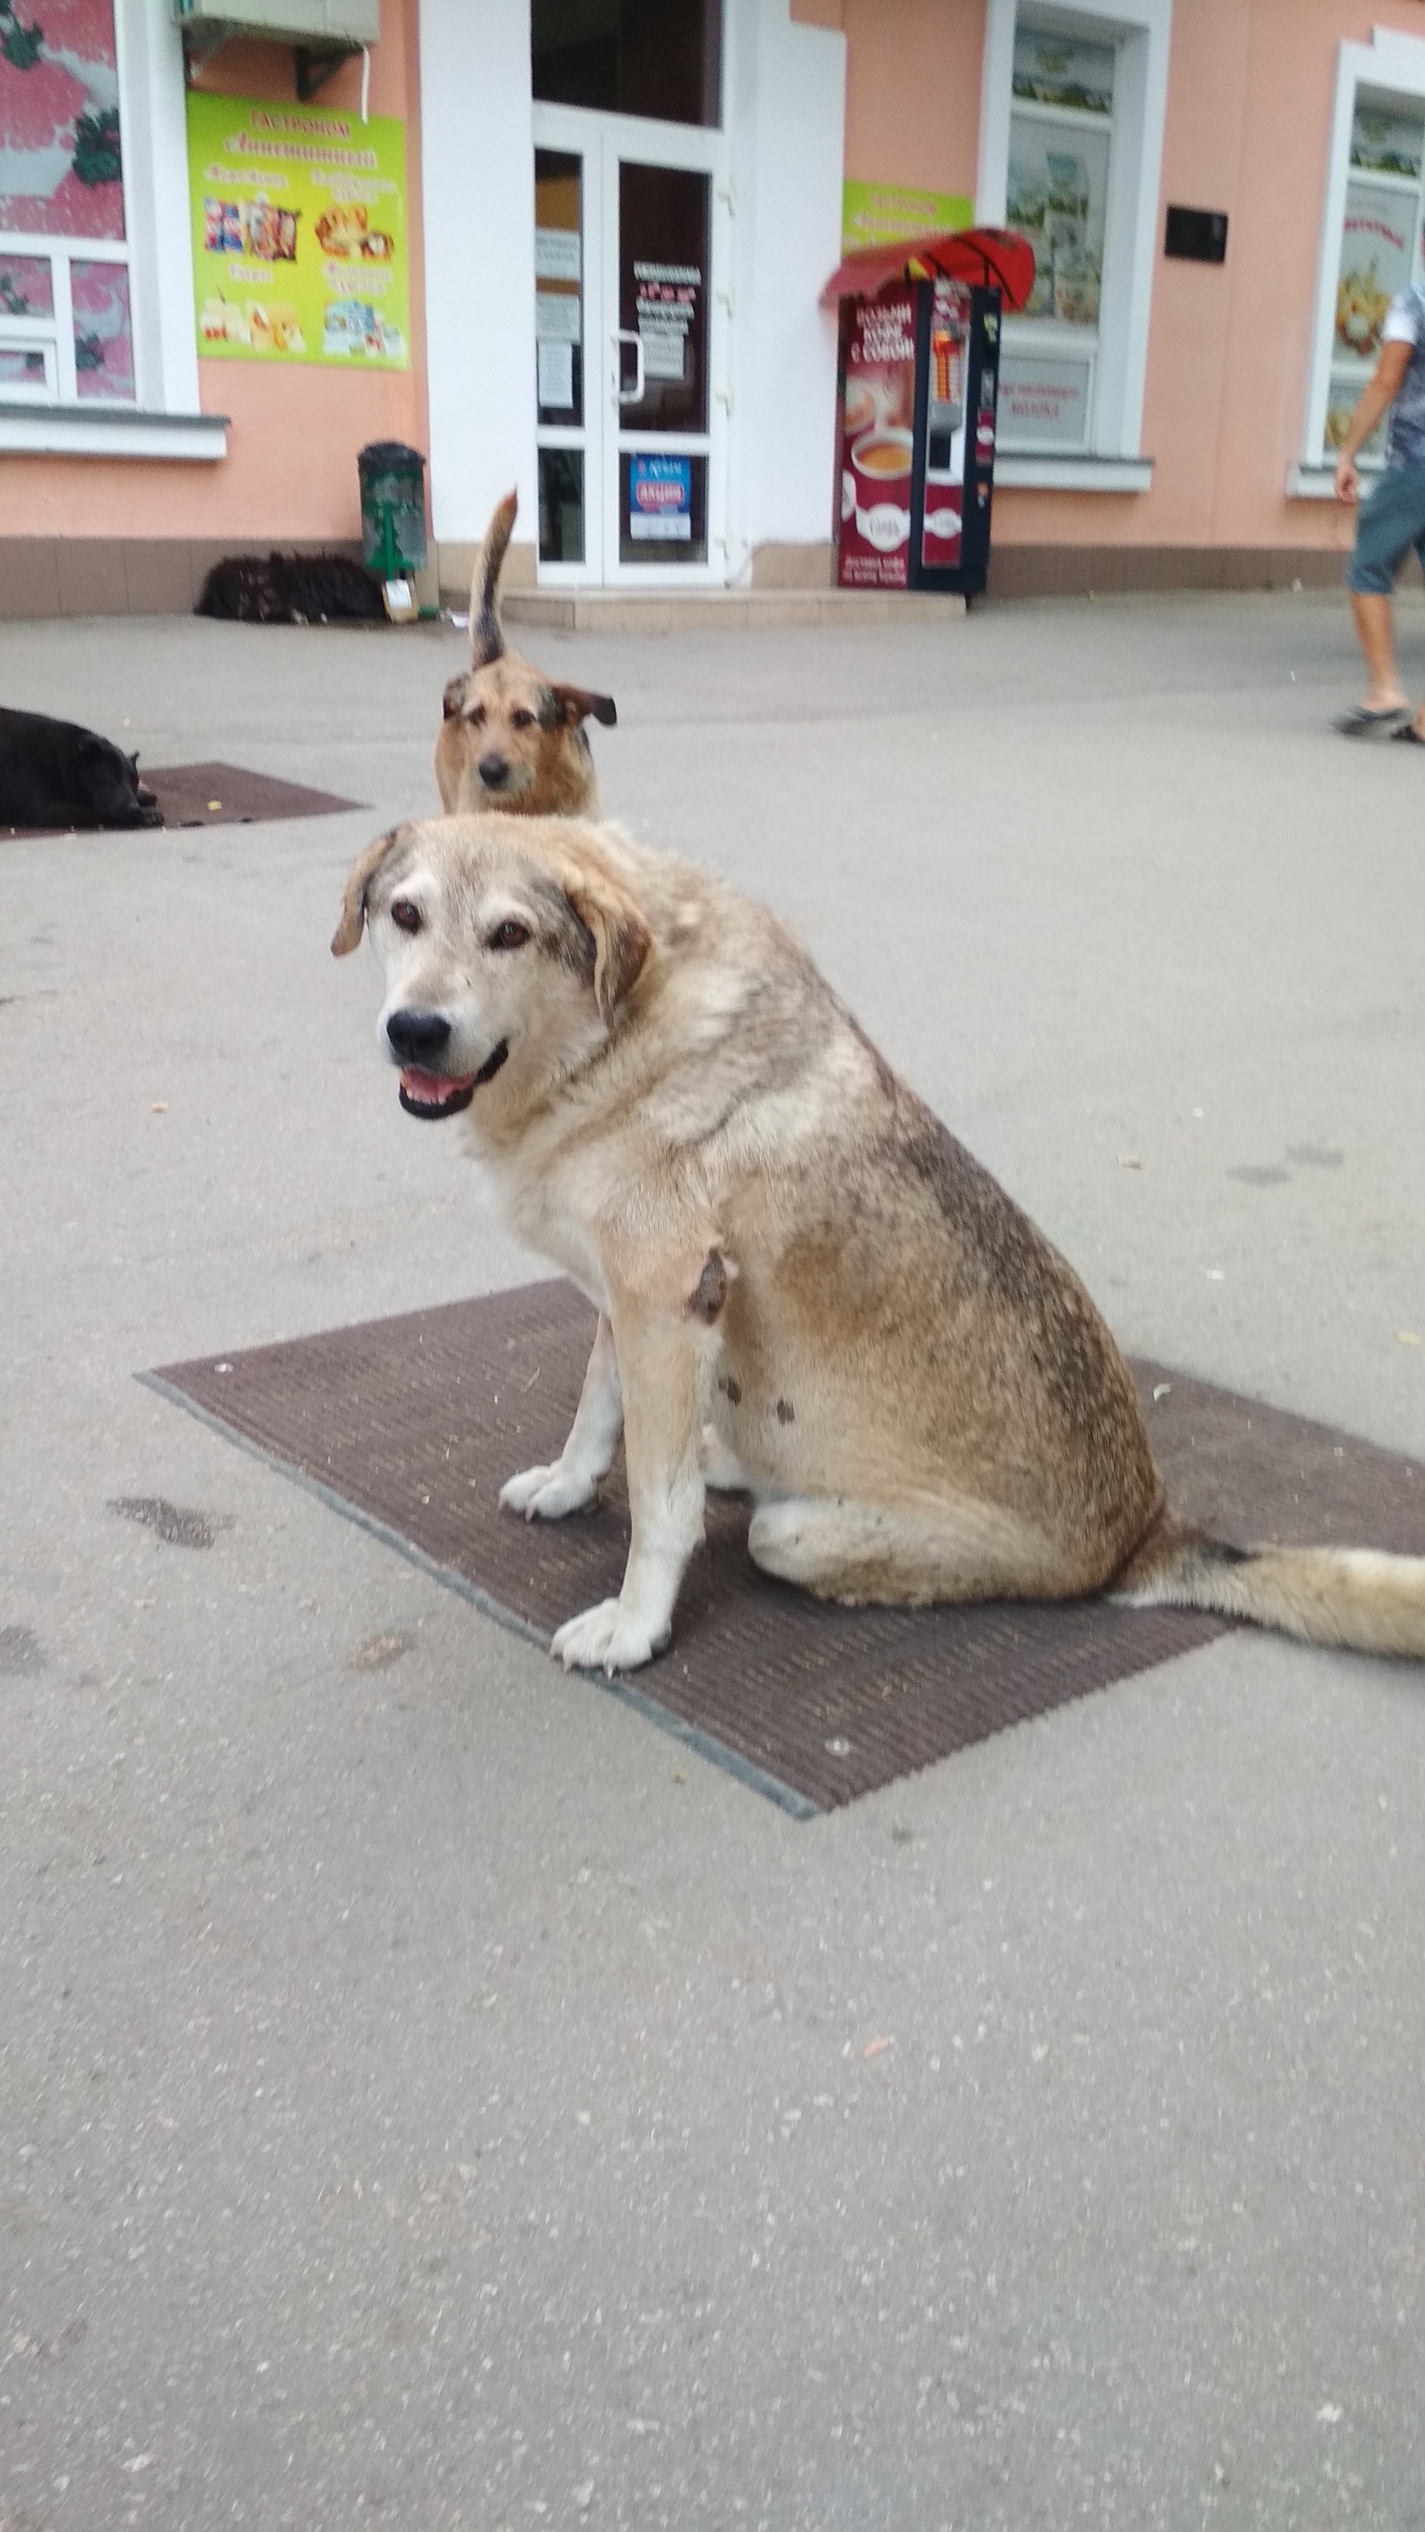
{"label": "brown ribbed mat underneath the large sitting dog", "polygon": [[[592,1329],[569,1284],[526,1284],[142,1377],[547,1643],[618,1593],[623,1463],[602,1507],[567,1522],[514,1519],[496,1494],[559,1456]],[[1220,1537],[1425,1552],[1425,1469],[1152,1362],[1134,1377],[1174,1501]],[[823,1608],[757,1572],[744,1501],[709,1496],[706,1527],[671,1651],[613,1686],[800,1818],[1223,1628],[1101,1600]]]}

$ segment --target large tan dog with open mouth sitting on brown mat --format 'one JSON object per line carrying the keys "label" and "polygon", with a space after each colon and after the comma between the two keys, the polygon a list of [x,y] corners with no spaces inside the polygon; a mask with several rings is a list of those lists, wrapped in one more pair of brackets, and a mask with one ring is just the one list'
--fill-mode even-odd
{"label": "large tan dog with open mouth sitting on brown mat", "polygon": [[501,1501],[595,1501],[620,1426],[618,1600],[554,1636],[668,1643],[704,1484],[828,1600],[1212,1608],[1425,1656],[1425,1557],[1238,1552],[1167,1507],[1129,1370],[1058,1251],[762,906],[569,818],[418,820],[357,861],[380,1041],[415,1117],[471,1112],[519,1236],[600,1312],[564,1451]]}

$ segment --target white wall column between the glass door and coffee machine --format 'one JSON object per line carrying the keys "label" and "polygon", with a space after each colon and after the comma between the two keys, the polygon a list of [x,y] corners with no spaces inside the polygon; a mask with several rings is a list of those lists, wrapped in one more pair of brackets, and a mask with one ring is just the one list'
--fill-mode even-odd
{"label": "white wall column between the glass door and coffee machine", "polygon": [[726,0],[731,142],[729,580],[759,544],[825,544],[835,466],[845,35],[787,0]]}

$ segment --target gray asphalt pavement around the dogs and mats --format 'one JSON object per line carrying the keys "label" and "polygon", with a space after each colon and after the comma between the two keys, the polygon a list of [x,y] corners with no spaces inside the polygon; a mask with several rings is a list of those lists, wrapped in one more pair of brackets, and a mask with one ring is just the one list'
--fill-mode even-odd
{"label": "gray asphalt pavement around the dogs and mats", "polygon": [[[1129,1347],[1425,1453],[1341,600],[532,648]],[[800,1826],[137,1385],[544,1271],[327,955],[458,656],[0,628],[370,803],[0,843],[3,2532],[1425,2527],[1425,1676],[1225,1636]]]}

